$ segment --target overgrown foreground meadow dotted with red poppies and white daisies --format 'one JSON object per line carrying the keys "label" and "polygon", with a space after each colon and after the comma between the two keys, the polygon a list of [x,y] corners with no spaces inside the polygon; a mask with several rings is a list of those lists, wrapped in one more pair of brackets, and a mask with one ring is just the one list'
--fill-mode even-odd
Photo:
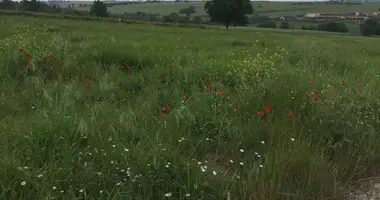
{"label": "overgrown foreground meadow dotted with red poppies and white daisies", "polygon": [[0,199],[344,199],[380,164],[376,38],[0,25]]}

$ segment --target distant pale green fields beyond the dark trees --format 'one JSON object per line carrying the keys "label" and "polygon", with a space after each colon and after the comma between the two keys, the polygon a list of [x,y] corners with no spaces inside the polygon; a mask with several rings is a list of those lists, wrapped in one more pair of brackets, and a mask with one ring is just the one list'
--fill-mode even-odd
{"label": "distant pale green fields beyond the dark trees", "polygon": [[[293,14],[293,6],[290,2],[255,2],[252,3],[253,8],[257,14],[268,16],[288,16]],[[110,13],[123,14],[134,12],[146,12],[146,13],[159,13],[161,15],[167,15],[171,12],[178,12],[180,9],[194,6],[196,13],[194,16],[206,15],[204,11],[203,2],[162,2],[162,3],[144,3],[144,4],[131,4],[131,5],[116,5],[109,7]],[[332,14],[344,14],[347,12],[363,12],[370,13],[378,12],[380,3],[364,3],[360,5],[342,5],[342,4],[313,4],[313,5],[295,5],[295,14],[305,13],[332,13]],[[88,10],[89,7],[78,7],[80,10]]]}

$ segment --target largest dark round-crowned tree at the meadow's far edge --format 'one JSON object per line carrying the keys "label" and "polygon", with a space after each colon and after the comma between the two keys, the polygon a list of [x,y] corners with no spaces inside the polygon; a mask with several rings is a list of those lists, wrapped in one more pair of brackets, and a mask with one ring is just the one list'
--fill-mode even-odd
{"label": "largest dark round-crowned tree at the meadow's far edge", "polygon": [[210,0],[205,3],[205,10],[211,21],[223,23],[227,29],[230,24],[246,25],[246,15],[253,13],[250,0]]}

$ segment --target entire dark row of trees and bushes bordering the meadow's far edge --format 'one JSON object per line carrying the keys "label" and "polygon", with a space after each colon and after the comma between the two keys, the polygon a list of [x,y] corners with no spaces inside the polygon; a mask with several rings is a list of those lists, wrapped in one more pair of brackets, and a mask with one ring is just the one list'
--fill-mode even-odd
{"label": "entire dark row of trees and bushes bordering the meadow's far edge", "polygon": [[[91,5],[90,11],[78,11],[72,8],[61,9],[56,5],[49,6],[45,3],[39,2],[37,0],[22,0],[21,2],[13,2],[11,0],[1,0],[0,9],[4,10],[18,10],[18,11],[29,11],[29,12],[53,12],[60,13],[62,10],[69,11],[70,14],[74,15],[90,15],[96,17],[108,17],[110,14],[107,11],[107,6],[104,2],[100,0],[95,0]],[[254,9],[250,0],[210,0],[204,5],[204,9],[208,14],[211,23],[223,24],[226,29],[230,26],[246,26],[250,21],[257,20],[257,27],[261,28],[282,28],[288,29],[294,26],[288,21],[282,21],[279,26],[277,23],[265,16],[252,16]],[[86,14],[87,13],[87,14]],[[169,15],[163,16],[161,20],[164,22],[174,22],[174,23],[195,23],[201,24],[203,20],[199,16],[191,17],[196,13],[195,7],[188,6],[182,8],[178,13],[171,13]],[[149,14],[149,15],[148,15]],[[182,15],[180,15],[182,14]],[[250,18],[248,16],[251,15]],[[128,16],[132,19],[138,20],[144,18],[144,20],[149,21],[159,21],[157,16],[150,13],[125,13],[124,15],[119,15],[120,17]],[[112,17],[117,17],[112,15]],[[250,20],[249,20],[250,19]],[[304,30],[319,30],[319,31],[329,31],[329,32],[348,32],[348,27],[344,22],[321,22],[317,25],[302,26]],[[380,24],[378,18],[370,18],[365,20],[360,25],[360,32],[363,36],[370,35],[380,35]]]}

